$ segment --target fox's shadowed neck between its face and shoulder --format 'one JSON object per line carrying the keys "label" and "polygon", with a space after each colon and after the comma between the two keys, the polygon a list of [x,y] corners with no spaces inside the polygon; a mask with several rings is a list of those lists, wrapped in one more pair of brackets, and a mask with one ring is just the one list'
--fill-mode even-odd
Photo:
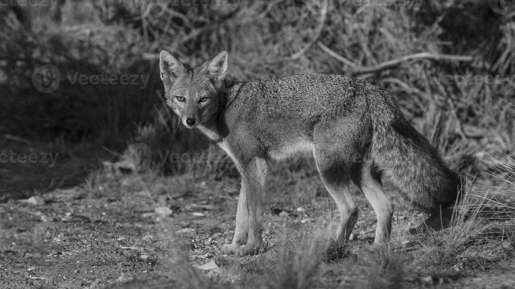
{"label": "fox's shadowed neck between its face and shoulder", "polygon": [[217,97],[216,112],[211,115],[209,120],[206,120],[198,125],[202,133],[210,139],[221,142],[227,135],[227,125],[225,122],[225,110],[228,105],[237,97],[239,88],[243,82],[234,82],[228,87],[227,92],[219,91]]}

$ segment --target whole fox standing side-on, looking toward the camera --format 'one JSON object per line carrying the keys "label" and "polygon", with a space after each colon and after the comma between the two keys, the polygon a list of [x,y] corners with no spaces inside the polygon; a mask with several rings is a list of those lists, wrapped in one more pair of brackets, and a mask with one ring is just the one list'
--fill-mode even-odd
{"label": "whole fox standing side-on, looking toward the camera", "polygon": [[351,182],[375,211],[375,245],[387,245],[391,234],[393,204],[383,179],[429,214],[425,228],[449,226],[460,179],[389,92],[338,74],[228,81],[227,63],[226,51],[193,69],[167,50],[159,61],[166,104],[182,125],[216,142],[242,177],[234,236],[220,253],[259,254],[267,161],[298,153],[313,155],[336,202],[336,241],[349,239],[358,218]]}

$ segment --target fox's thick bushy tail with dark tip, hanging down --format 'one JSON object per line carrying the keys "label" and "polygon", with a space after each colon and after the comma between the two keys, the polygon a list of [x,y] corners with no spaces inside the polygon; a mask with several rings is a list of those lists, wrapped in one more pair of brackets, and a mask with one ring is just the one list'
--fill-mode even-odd
{"label": "fox's thick bushy tail with dark tip, hanging down", "polygon": [[403,197],[431,213],[452,207],[460,198],[461,181],[431,143],[404,118],[384,90],[371,111],[371,156],[382,175]]}

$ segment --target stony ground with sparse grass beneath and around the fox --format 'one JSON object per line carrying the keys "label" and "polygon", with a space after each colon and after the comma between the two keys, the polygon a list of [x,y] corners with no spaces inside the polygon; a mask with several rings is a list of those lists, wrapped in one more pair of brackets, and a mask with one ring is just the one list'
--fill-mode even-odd
{"label": "stony ground with sparse grass beneath and around the fox", "polygon": [[[468,219],[444,232],[408,235],[407,230],[424,216],[388,189],[396,205],[393,237],[390,248],[378,249],[371,245],[373,210],[353,188],[360,208],[353,240],[331,242],[328,236],[337,222],[335,203],[318,176],[307,171],[271,169],[264,252],[250,257],[219,253],[234,233],[237,178],[101,168],[82,184],[49,191],[41,199],[10,200],[0,204],[0,284],[6,288],[515,286],[512,226],[506,222]],[[210,261],[218,268],[202,271],[190,266]]]}

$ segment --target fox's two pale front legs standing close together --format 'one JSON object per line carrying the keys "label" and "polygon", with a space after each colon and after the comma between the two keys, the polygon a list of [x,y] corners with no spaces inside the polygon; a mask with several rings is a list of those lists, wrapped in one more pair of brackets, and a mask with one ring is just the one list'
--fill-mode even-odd
{"label": "fox's two pale front legs standing close together", "polygon": [[261,246],[266,162],[255,158],[241,167],[242,189],[238,200],[234,238],[231,244],[222,247],[221,252],[246,256],[258,254]]}

